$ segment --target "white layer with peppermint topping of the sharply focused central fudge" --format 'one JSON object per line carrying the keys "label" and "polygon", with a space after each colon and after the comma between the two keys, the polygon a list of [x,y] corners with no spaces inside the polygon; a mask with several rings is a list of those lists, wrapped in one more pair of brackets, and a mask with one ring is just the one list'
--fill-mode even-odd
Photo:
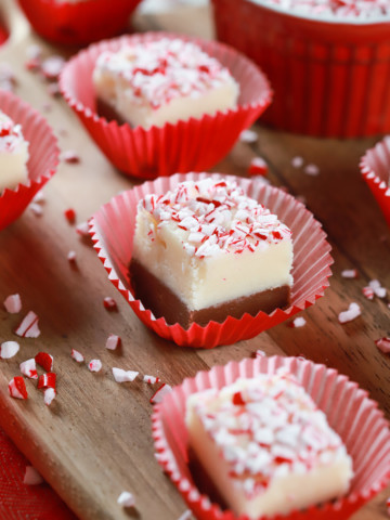
{"label": "white layer with peppermint topping of the sharply focused central fudge", "polygon": [[289,229],[236,182],[183,182],[139,203],[133,258],[190,310],[292,285]]}

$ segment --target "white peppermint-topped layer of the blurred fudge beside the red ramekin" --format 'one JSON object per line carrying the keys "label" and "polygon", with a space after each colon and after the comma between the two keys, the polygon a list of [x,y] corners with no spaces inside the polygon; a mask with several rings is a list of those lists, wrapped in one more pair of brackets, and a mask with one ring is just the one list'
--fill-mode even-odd
{"label": "white peppermint-topped layer of the blurred fudge beside the red ramekin", "polygon": [[236,105],[229,70],[192,42],[162,38],[103,52],[93,72],[98,98],[132,126],[150,128]]}

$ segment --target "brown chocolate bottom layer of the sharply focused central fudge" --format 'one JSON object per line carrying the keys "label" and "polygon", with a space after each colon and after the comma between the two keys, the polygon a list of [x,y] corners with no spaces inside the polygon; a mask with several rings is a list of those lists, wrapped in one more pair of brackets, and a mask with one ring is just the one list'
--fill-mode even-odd
{"label": "brown chocolate bottom layer of the sharply focused central fudge", "polygon": [[259,311],[269,314],[277,308],[285,309],[290,303],[290,287],[284,285],[207,309],[192,311],[136,260],[131,261],[130,275],[135,297],[146,309],[151,309],[156,317],[164,316],[168,324],[180,323],[184,328],[188,328],[194,322],[204,326],[210,321],[222,323],[227,316],[240,318],[245,312],[252,316],[256,316]]}

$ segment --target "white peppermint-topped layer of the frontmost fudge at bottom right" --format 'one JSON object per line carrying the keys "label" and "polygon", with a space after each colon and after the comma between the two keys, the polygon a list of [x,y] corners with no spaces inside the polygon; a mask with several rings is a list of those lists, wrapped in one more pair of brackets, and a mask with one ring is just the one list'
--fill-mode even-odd
{"label": "white peppermint-topped layer of the frontmost fudge at bottom right", "polygon": [[291,375],[195,393],[186,426],[190,446],[237,515],[287,514],[349,489],[351,457]]}

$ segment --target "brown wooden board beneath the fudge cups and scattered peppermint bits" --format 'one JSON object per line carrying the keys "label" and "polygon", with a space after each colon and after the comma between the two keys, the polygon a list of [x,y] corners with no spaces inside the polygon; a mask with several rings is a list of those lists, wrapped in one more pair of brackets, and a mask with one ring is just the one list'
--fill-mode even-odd
{"label": "brown wooden board beneath the fudge cups and scattered peppermint bits", "polygon": [[[40,112],[46,110],[61,147],[76,150],[81,161],[61,164],[44,188],[41,217],[27,209],[0,234],[0,300],[14,292],[23,300],[20,315],[0,310],[0,338],[16,339],[12,330],[29,310],[38,314],[41,328],[38,339],[20,340],[21,351],[14,359],[1,361],[0,422],[79,518],[173,520],[186,509],[154,457],[148,401],[154,389],[141,380],[116,384],[113,366],[177,385],[199,369],[250,356],[257,349],[268,354],[302,354],[356,380],[389,416],[390,361],[374,343],[390,335],[388,299],[372,302],[362,296],[362,287],[372,278],[390,288],[389,230],[358,168],[359,158],[375,140],[317,140],[257,126],[258,143],[235,146],[216,171],[246,176],[250,158],[262,155],[271,167],[271,182],[303,196],[323,222],[334,247],[330,288],[304,312],[307,325],[302,328],[282,324],[251,340],[211,351],[176,347],[143,326],[109,283],[88,240],[81,239],[64,218],[64,210],[72,207],[77,221],[82,222],[113,195],[132,186],[131,180],[103,157],[66,103],[49,98],[42,80],[24,67],[31,43],[39,43],[48,55],[68,55],[69,51],[35,36],[11,0],[3,0],[1,9],[12,37],[0,49],[0,61],[14,68],[16,92]],[[207,8],[183,8],[164,15],[139,13],[135,27],[211,37]],[[307,164],[318,165],[321,173],[310,177],[294,169],[291,158],[297,155]],[[77,269],[67,261],[69,250],[77,253]],[[359,280],[340,276],[343,269],[352,268],[359,270]],[[106,296],[117,300],[118,312],[104,309]],[[351,301],[362,307],[362,316],[340,325],[337,315]],[[109,334],[122,338],[118,352],[105,349]],[[100,359],[102,372],[92,374],[86,364],[75,363],[72,348],[82,352],[87,361]],[[27,401],[10,399],[8,393],[18,363],[40,350],[54,356],[57,373],[58,395],[50,407],[31,381],[27,381]],[[130,514],[116,503],[123,490],[136,498],[136,509]],[[385,499],[389,494],[390,487],[353,520],[388,518]]]}

